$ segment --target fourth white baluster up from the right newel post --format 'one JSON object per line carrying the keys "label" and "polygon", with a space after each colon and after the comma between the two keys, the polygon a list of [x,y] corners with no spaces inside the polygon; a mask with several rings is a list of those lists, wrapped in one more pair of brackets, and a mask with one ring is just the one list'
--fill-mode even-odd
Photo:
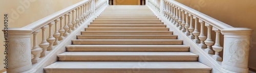
{"label": "fourth white baluster up from the right newel post", "polygon": [[198,26],[198,18],[195,17],[195,30],[193,32],[193,34],[195,35],[195,39],[194,39],[194,42],[195,43],[200,43],[200,40],[198,39],[198,36],[200,34],[200,32],[198,32],[198,29],[197,29],[197,26]]}

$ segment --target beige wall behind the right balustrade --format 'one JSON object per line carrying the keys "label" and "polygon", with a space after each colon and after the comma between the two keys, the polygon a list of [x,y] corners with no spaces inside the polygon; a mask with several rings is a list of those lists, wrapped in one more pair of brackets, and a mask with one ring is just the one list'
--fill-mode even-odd
{"label": "beige wall behind the right balustrade", "polygon": [[253,29],[254,47],[250,50],[249,67],[256,69],[256,1],[255,0],[175,0],[236,28]]}

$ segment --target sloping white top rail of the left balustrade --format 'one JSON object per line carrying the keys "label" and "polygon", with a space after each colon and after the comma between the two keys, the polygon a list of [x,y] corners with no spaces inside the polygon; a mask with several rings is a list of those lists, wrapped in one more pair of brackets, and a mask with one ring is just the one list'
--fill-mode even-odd
{"label": "sloping white top rail of the left balustrade", "polygon": [[60,10],[58,12],[55,12],[55,13],[47,16],[47,17],[39,19],[39,20],[37,20],[37,21],[35,21],[33,23],[30,23],[29,25],[23,27],[23,29],[32,30],[32,32],[34,32],[34,31],[40,29],[41,27],[44,27],[44,26],[48,25],[48,23],[50,23],[51,21],[54,21],[55,19],[58,19],[59,17],[61,17],[61,16],[65,15],[65,14],[71,12],[72,10],[80,7],[81,5],[83,5],[84,3],[87,3],[89,1],[91,1],[91,0],[83,0],[83,1],[81,1],[79,3],[77,3],[77,4],[69,6],[69,7],[65,8],[65,9],[62,9],[62,10]]}

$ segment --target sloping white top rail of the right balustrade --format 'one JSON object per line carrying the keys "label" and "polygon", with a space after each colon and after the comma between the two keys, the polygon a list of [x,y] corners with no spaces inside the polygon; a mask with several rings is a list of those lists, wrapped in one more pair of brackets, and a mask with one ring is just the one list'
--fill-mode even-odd
{"label": "sloping white top rail of the right balustrade", "polygon": [[198,17],[199,19],[205,21],[206,23],[209,23],[210,25],[214,26],[215,28],[219,29],[219,30],[223,30],[223,29],[227,29],[227,28],[233,28],[232,26],[227,25],[224,22],[221,22],[215,18],[212,18],[208,15],[205,15],[195,9],[192,9],[190,7],[187,7],[181,3],[178,3],[174,0],[165,0],[169,3],[172,3],[173,5],[180,7],[181,9],[185,10],[186,12],[190,13],[191,15],[194,15],[196,17]]}

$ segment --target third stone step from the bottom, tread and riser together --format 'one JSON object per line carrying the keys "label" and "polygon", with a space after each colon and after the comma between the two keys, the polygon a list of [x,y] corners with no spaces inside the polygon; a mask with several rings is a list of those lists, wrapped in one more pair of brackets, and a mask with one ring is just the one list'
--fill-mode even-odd
{"label": "third stone step from the bottom, tread and riser together", "polygon": [[188,52],[186,45],[68,45],[68,52]]}

